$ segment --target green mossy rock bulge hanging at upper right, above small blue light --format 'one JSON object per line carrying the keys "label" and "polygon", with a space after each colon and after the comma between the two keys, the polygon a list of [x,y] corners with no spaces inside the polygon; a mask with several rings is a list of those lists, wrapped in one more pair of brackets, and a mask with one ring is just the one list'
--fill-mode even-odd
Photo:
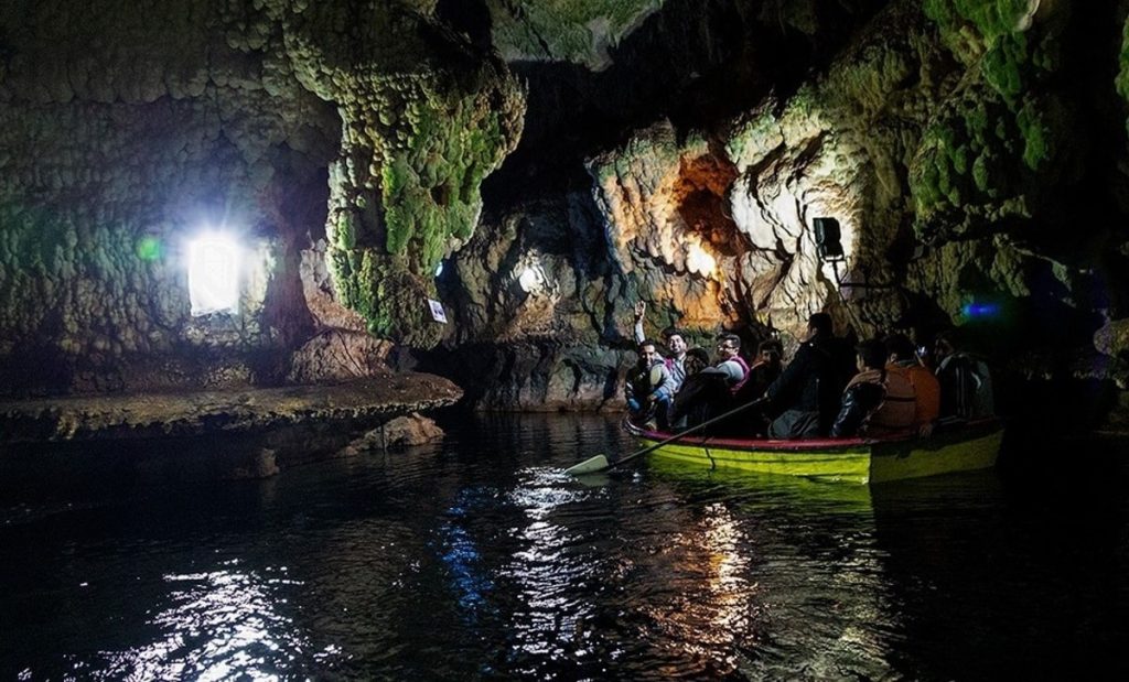
{"label": "green mossy rock bulge hanging at upper right, above small blue light", "polygon": [[1067,3],[929,0],[926,15],[968,69],[929,122],[910,172],[926,239],[1025,217],[1074,166],[1074,107],[1057,89]]}

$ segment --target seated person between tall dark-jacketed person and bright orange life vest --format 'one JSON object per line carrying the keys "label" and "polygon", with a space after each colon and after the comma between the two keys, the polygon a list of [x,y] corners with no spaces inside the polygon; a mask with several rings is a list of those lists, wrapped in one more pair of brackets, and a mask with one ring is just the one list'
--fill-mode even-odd
{"label": "seated person between tall dark-jacketed person and bright orange life vest", "polygon": [[886,348],[877,339],[858,346],[859,373],[843,391],[832,438],[882,436],[913,428],[913,386],[900,371],[886,370]]}

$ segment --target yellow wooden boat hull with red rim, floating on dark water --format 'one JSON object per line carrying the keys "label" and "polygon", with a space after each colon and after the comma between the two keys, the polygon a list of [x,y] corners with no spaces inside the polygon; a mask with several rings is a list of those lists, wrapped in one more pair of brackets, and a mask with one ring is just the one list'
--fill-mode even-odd
{"label": "yellow wooden boat hull with red rim, floating on dark water", "polygon": [[741,440],[684,436],[658,445],[671,434],[625,422],[656,457],[767,474],[808,476],[852,483],[881,483],[996,464],[1004,427],[997,419],[939,427],[928,438],[916,434],[889,438]]}

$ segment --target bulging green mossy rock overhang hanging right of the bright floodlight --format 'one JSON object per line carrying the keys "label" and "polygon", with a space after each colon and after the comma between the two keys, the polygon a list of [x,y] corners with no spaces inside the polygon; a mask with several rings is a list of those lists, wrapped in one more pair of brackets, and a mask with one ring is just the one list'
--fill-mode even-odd
{"label": "bulging green mossy rock overhang hanging right of the bright floodlight", "polygon": [[520,135],[523,90],[418,8],[374,6],[358,23],[310,7],[287,30],[300,78],[343,123],[326,230],[341,299],[371,333],[432,346],[432,273],[474,231],[482,178]]}

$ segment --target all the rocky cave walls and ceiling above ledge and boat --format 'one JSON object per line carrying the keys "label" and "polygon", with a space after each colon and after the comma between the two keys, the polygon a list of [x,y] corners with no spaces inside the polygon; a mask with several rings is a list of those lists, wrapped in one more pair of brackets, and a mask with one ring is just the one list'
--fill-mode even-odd
{"label": "all the rocky cave walls and ceiling above ledge and boat", "polygon": [[[1089,352],[1129,316],[1115,14],[14,0],[0,385],[339,381],[392,357],[490,408],[614,405],[637,300],[648,334],[703,347],[790,344],[823,309],[859,335],[994,309],[1009,352]],[[205,225],[250,257],[237,312],[193,317]]]}

